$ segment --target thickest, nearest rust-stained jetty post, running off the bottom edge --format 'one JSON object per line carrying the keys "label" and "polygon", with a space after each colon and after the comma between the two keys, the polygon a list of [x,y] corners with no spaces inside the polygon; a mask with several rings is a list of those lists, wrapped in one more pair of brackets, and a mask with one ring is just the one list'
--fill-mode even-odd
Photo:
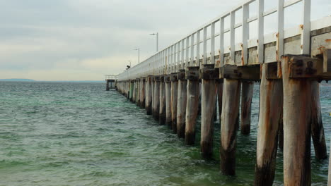
{"label": "thickest, nearest rust-stained jetty post, running off the bottom edge", "polygon": [[[311,77],[314,70],[298,72],[310,64],[308,57],[283,56],[284,89],[284,186],[310,185]],[[314,66],[313,66],[314,67]],[[313,69],[306,66],[306,68]]]}

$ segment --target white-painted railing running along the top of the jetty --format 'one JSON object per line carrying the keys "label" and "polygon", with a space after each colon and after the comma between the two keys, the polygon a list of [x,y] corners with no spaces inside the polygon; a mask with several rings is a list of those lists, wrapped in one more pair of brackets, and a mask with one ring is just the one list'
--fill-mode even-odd
{"label": "white-painted railing running along the top of the jetty", "polygon": [[[303,2],[302,25],[284,30],[284,8]],[[250,16],[250,5],[257,2],[257,15]],[[310,31],[317,30],[323,26],[331,25],[331,17],[323,18],[323,21],[310,23],[311,0],[278,0],[277,7],[265,11],[264,0],[249,0],[234,7],[231,11],[210,20],[194,30],[180,41],[171,44],[165,49],[158,51],[145,61],[120,73],[119,80],[132,80],[148,75],[167,75],[176,73],[187,66],[201,66],[202,64],[215,64],[216,67],[225,64],[247,66],[251,64],[267,63],[269,56],[265,56],[265,44],[276,42],[274,61],[279,61],[284,54],[284,39],[300,35],[298,44],[299,54],[310,54]],[[241,11],[241,22],[236,23],[236,13]],[[277,13],[277,33],[265,35],[264,26],[266,16]],[[224,26],[224,20],[230,20],[230,26]],[[257,21],[257,38],[249,39],[249,24]],[[218,27],[216,27],[218,25]],[[236,43],[236,29],[241,27],[240,42]],[[228,35],[228,36],[226,36]],[[238,34],[237,34],[238,35]],[[215,42],[219,42],[218,51],[215,50]],[[229,46],[224,47],[225,38],[229,38]],[[248,49],[255,50],[255,58],[250,60]],[[209,51],[209,52],[208,52]],[[238,53],[239,52],[239,53]],[[217,54],[218,53],[218,54]],[[236,55],[240,57],[236,58]],[[268,54],[269,55],[269,54]],[[249,62],[250,61],[250,62]]]}

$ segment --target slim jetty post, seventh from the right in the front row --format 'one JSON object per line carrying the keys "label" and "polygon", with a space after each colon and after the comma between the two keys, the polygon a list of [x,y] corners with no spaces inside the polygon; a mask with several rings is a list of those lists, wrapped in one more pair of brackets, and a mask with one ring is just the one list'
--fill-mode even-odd
{"label": "slim jetty post, seventh from the right in the front row", "polygon": [[178,74],[171,73],[171,128],[177,134]]}

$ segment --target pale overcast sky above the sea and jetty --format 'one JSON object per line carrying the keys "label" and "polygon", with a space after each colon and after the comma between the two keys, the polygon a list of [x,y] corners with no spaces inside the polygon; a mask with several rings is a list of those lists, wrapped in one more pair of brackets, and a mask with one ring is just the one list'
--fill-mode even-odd
{"label": "pale overcast sky above the sea and jetty", "polygon": [[[266,0],[272,6],[274,0]],[[311,19],[331,14],[330,0],[311,0]],[[240,0],[0,0],[0,79],[103,80],[177,42]],[[300,6],[286,27],[299,25]],[[267,9],[266,7],[266,9]],[[270,16],[267,31],[275,26]],[[251,32],[254,37],[255,32]]]}

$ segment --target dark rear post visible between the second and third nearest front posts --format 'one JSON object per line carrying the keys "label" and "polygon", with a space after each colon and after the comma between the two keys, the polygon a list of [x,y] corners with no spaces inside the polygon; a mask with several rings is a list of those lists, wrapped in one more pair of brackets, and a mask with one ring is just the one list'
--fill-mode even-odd
{"label": "dark rear post visible between the second and third nearest front posts", "polygon": [[250,113],[252,106],[252,94],[254,83],[251,81],[243,81],[241,93],[241,114],[240,114],[240,132],[243,135],[250,134]]}

